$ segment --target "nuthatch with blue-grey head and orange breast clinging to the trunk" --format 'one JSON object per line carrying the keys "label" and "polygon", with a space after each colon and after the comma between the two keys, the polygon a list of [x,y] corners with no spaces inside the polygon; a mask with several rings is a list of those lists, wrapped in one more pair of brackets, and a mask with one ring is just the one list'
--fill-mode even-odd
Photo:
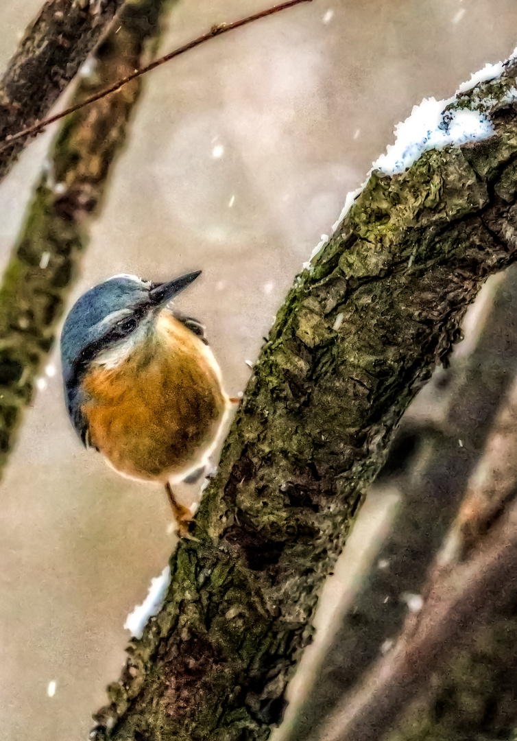
{"label": "nuthatch with blue-grey head and orange breast clinging to the trunk", "polygon": [[170,482],[216,445],[230,402],[203,326],[170,302],[199,273],[167,283],[114,276],[73,305],[61,334],[68,414],[86,448],[124,476],[162,482],[181,534],[190,510]]}

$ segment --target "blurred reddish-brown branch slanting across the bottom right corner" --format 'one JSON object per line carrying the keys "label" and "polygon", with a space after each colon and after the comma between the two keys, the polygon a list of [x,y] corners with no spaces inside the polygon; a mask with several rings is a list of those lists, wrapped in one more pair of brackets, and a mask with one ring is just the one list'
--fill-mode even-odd
{"label": "blurred reddish-brown branch slanting across the bottom right corner", "polygon": [[348,698],[346,712],[329,719],[321,739],[378,741],[385,737],[433,672],[447,668],[453,649],[515,605],[516,568],[517,505],[512,502],[464,565],[448,579],[433,579],[421,614],[408,619],[396,647],[373,667],[367,684]]}

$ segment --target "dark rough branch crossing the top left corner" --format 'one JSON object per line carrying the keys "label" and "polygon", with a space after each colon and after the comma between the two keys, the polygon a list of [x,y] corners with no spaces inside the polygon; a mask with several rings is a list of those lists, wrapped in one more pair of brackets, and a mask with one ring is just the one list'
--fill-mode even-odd
{"label": "dark rough branch crossing the top left corner", "polygon": [[[0,141],[43,118],[123,0],[50,0],[27,28],[0,82]],[[27,140],[1,152],[0,179]]]}

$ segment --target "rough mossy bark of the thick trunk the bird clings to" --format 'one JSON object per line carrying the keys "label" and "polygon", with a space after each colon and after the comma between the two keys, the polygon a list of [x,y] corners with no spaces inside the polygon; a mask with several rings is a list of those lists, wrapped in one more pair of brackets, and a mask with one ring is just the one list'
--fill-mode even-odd
{"label": "rough mossy bark of the thick trunk the bird clings to", "polygon": [[401,413],[469,302],[516,259],[517,64],[458,104],[496,135],[373,173],[261,353],[195,540],[130,642],[96,740],[260,741],[281,719],[310,617]]}

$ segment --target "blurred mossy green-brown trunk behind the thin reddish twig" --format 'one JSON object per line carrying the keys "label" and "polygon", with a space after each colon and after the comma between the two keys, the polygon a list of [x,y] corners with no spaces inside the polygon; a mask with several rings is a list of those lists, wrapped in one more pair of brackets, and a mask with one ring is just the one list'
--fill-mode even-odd
{"label": "blurred mossy green-brown trunk behind the thin reddish twig", "polygon": [[[159,36],[165,0],[138,0],[121,10],[115,27],[75,93],[118,80],[147,59],[145,44]],[[54,339],[64,301],[87,245],[91,216],[101,206],[107,176],[127,136],[139,81],[78,111],[56,136],[0,285],[0,468],[30,402],[34,381]]]}

